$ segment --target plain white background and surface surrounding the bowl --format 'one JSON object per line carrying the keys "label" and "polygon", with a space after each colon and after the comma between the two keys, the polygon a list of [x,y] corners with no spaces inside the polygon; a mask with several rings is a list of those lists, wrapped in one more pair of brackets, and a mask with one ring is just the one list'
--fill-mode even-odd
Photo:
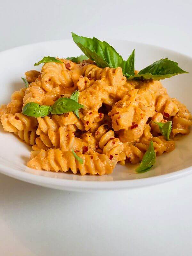
{"label": "plain white background and surface surrounding the bowl", "polygon": [[[192,56],[190,0],[1,0],[0,10],[0,51],[73,31]],[[0,174],[0,255],[189,256],[191,187],[188,176],[136,190],[74,193]]]}

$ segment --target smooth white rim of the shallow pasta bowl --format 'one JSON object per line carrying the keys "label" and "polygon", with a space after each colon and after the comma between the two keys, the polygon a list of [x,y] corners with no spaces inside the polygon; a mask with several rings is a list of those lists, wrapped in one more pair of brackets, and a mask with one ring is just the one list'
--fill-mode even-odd
{"label": "smooth white rim of the shallow pasta bowl", "polygon": [[[187,58],[188,60],[192,61],[192,57],[189,55],[186,55],[177,51],[173,51],[165,47],[153,45],[153,44],[146,44],[146,43],[140,43],[136,41],[114,39],[114,38],[105,39],[105,41],[107,40],[116,41],[116,42],[127,42],[131,44],[140,44],[148,47],[155,47],[156,49],[169,51],[169,52],[172,52],[173,54],[180,55],[181,57]],[[7,52],[10,53],[12,51],[20,50],[22,48],[37,46],[40,44],[63,42],[63,41],[72,42],[73,40],[68,38],[68,39],[60,39],[60,40],[42,41],[42,42],[37,42],[32,44],[24,44],[24,45],[10,48],[10,49],[6,49],[4,51],[0,51],[0,56],[3,54],[7,54]],[[192,173],[192,166],[189,166],[187,168],[184,168],[182,170],[178,170],[175,172],[157,175],[154,177],[147,177],[147,178],[141,178],[141,179],[135,179],[135,180],[113,180],[113,181],[68,180],[68,179],[45,177],[42,175],[36,175],[29,172],[19,171],[14,168],[5,166],[1,163],[0,163],[0,172],[12,178],[26,181],[32,184],[44,186],[44,187],[63,189],[63,190],[72,190],[72,191],[82,191],[82,190],[103,191],[103,190],[124,190],[124,189],[141,188],[141,187],[152,186],[152,185],[168,182],[171,180],[179,179],[181,177],[190,175]],[[47,171],[43,171],[43,172],[47,172]]]}

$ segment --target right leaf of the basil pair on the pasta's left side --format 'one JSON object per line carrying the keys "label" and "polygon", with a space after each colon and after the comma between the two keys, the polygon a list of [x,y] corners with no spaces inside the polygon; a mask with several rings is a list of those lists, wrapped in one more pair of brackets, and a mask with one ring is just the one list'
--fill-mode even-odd
{"label": "right leaf of the basil pair on the pasta's left side", "polygon": [[71,100],[68,98],[60,98],[55,101],[55,103],[51,107],[52,114],[63,114],[74,111],[79,108],[83,108],[84,106],[76,102],[75,100]]}

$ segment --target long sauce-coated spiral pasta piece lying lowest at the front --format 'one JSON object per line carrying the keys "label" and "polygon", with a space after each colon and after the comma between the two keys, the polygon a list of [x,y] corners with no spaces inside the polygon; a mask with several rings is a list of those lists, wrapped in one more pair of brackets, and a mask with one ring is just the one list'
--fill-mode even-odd
{"label": "long sauce-coated spiral pasta piece lying lowest at the front", "polygon": [[81,175],[104,175],[112,173],[116,165],[115,159],[109,159],[107,155],[93,153],[92,155],[76,152],[77,156],[83,159],[83,164],[79,163],[73,153],[68,150],[62,152],[60,149],[41,150],[32,153],[32,158],[27,166],[37,170],[54,172],[67,172],[69,169],[73,173],[80,172]]}

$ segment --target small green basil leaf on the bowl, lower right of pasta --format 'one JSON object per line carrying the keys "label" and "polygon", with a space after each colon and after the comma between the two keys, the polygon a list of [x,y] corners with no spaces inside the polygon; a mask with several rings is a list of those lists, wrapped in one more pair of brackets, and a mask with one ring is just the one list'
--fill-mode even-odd
{"label": "small green basil leaf on the bowl, lower right of pasta", "polygon": [[150,141],[149,148],[145,152],[143,159],[140,163],[140,166],[136,169],[135,172],[147,172],[154,165],[156,159],[156,154],[154,152],[153,141]]}

